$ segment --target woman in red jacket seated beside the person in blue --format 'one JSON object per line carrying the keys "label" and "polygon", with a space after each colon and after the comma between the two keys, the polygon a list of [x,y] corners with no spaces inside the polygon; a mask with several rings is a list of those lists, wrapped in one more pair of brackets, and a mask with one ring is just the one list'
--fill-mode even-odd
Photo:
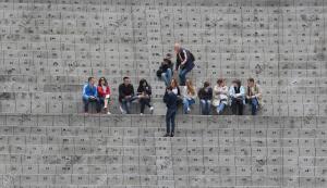
{"label": "woman in red jacket seated beside the person in blue", "polygon": [[108,85],[108,82],[105,77],[100,77],[98,83],[98,96],[100,99],[100,104],[104,106],[104,110],[107,111],[107,114],[111,114],[109,111],[109,104],[110,104],[110,87]]}

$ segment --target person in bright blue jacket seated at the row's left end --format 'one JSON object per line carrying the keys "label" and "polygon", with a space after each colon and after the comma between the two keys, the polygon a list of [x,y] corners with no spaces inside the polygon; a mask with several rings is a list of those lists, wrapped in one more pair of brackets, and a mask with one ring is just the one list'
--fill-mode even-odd
{"label": "person in bright blue jacket seated at the row's left end", "polygon": [[100,100],[98,98],[97,87],[95,86],[95,78],[89,77],[87,79],[87,84],[83,87],[83,103],[84,103],[84,112],[88,113],[88,104],[90,102],[96,103],[97,113],[100,113]]}

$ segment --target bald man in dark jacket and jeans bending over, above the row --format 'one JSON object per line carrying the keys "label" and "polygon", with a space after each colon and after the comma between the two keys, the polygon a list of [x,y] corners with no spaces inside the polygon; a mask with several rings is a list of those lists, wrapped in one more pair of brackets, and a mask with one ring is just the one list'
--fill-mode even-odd
{"label": "bald man in dark jacket and jeans bending over, above the row", "polygon": [[175,71],[179,71],[180,85],[185,86],[186,74],[193,70],[194,55],[186,49],[182,48],[180,43],[174,43],[174,53],[177,55]]}

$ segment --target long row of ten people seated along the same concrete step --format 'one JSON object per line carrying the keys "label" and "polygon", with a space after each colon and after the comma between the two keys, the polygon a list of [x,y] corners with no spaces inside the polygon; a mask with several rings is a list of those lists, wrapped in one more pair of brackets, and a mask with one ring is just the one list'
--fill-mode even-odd
{"label": "long row of ten people seated along the same concrete step", "polygon": [[[84,112],[88,113],[89,102],[96,103],[98,113],[104,109],[105,113],[111,114],[109,111],[111,103],[111,91],[105,77],[98,80],[96,86],[94,77],[88,78],[88,83],[83,88]],[[185,86],[179,87],[175,78],[167,88],[171,88],[171,92],[177,97],[177,105],[182,104],[183,113],[191,112],[191,106],[199,100],[201,112],[203,115],[211,114],[211,105],[217,114],[221,114],[228,104],[231,105],[232,114],[243,115],[244,104],[247,102],[252,105],[252,115],[256,115],[262,102],[262,90],[259,85],[253,78],[247,79],[247,87],[242,86],[241,80],[234,79],[232,85],[228,87],[225,79],[219,78],[217,85],[211,88],[208,82],[205,82],[199,90],[196,90],[191,79],[185,80]],[[167,90],[166,90],[167,92]],[[150,103],[152,87],[146,79],[141,79],[135,93],[134,87],[129,77],[123,78],[123,84],[119,86],[120,111],[123,114],[131,113],[131,104],[137,100],[141,104],[141,115],[144,114],[145,108],[148,106],[150,113],[154,106]]]}

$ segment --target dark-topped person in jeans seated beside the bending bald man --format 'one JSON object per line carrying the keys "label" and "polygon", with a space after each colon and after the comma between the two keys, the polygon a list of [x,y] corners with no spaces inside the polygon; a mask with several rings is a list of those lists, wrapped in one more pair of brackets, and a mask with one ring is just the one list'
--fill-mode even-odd
{"label": "dark-topped person in jeans seated beside the bending bald man", "polygon": [[166,87],[170,85],[172,77],[172,62],[171,54],[167,53],[164,58],[164,62],[161,63],[159,70],[157,71],[157,76],[165,82]]}

